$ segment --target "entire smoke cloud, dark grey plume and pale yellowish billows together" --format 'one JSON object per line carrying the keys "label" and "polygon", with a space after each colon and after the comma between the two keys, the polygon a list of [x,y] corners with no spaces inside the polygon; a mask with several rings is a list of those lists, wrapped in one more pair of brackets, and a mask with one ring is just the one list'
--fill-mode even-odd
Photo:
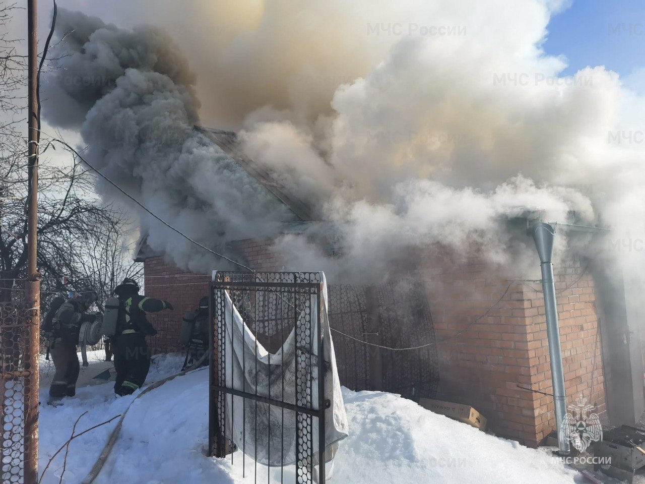
{"label": "entire smoke cloud, dark grey plume and pale yellowish billows together", "polygon": [[[642,97],[603,67],[561,76],[565,61],[541,50],[566,2],[189,4],[155,2],[167,8],[150,17],[177,25],[197,76],[159,30],[62,12],[59,36],[75,30],[46,114],[81,126],[95,165],[211,247],[275,235],[289,215],[191,129],[198,113],[241,128],[246,154],[331,222],[335,259],[318,234],[279,239],[294,268],[384,273],[433,242],[475,242],[504,261],[515,250],[504,220],[527,209],[619,237],[645,219],[642,146],[625,136],[639,130]],[[141,221],[177,265],[212,266]],[[619,255],[626,267],[639,257]]]}

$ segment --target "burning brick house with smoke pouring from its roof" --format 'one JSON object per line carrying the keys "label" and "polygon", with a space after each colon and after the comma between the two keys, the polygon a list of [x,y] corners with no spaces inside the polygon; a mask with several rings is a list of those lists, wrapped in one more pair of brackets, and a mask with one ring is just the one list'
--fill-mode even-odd
{"label": "burning brick house with smoke pouring from its roof", "polygon": [[[306,220],[306,203],[267,183],[270,174],[240,159],[230,134],[213,134],[213,142]],[[518,223],[530,220],[514,220],[513,227]],[[528,239],[520,231],[517,237],[522,236]],[[239,259],[259,272],[281,270],[286,263],[271,247],[271,240],[232,244]],[[644,409],[640,341],[637,335],[629,343],[623,338],[633,321],[622,282],[605,277],[588,256],[571,254],[554,265],[568,403],[582,396],[597,405],[605,425],[633,425]],[[174,312],[151,315],[159,330],[151,346],[155,352],[179,350],[181,315],[208,294],[210,275],[174,267],[151,252],[145,239],[137,260],[144,263],[146,295],[175,306]],[[495,434],[539,445],[555,429],[555,412],[537,254],[528,265],[502,265],[487,262],[476,247],[463,256],[435,245],[417,250],[402,266],[424,284],[432,314],[439,363],[435,398],[468,403],[488,418]],[[530,266],[534,270],[521,269]]]}

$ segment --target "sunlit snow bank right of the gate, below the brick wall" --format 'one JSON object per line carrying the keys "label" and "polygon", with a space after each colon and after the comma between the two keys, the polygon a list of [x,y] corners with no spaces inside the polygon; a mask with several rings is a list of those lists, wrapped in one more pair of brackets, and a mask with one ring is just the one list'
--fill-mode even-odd
{"label": "sunlit snow bank right of the gate, below the brick wall", "polygon": [[541,450],[489,436],[382,392],[344,394],[350,437],[335,462],[336,484],[575,482]]}

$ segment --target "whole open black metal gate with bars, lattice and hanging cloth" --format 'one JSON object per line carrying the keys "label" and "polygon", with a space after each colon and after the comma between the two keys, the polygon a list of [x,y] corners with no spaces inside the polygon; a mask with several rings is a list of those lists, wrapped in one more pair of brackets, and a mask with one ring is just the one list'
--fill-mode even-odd
{"label": "whole open black metal gate with bars, lattice and hanging cloth", "polygon": [[[266,445],[269,455],[263,459],[267,465],[280,468],[281,482],[285,477],[285,462],[293,462],[297,484],[324,483],[324,411],[329,402],[324,399],[324,368],[319,363],[323,359],[312,358],[314,347],[317,347],[318,356],[323,355],[321,283],[319,273],[309,272],[217,272],[210,283],[213,355],[210,359],[209,452],[217,457],[230,454],[233,463],[233,456],[239,455],[234,451],[239,448],[243,473],[246,474],[248,465],[252,465],[256,481],[258,446]],[[226,314],[227,307],[231,314]],[[257,343],[253,343],[256,345],[255,368],[246,366],[246,358],[242,358],[241,367],[239,360],[235,359],[232,348],[240,341],[235,341],[235,333],[230,328],[227,332],[226,328],[227,316],[228,324],[231,324],[233,308],[237,309],[252,333],[253,341],[269,352],[269,361],[272,356],[280,358],[276,352],[293,331],[296,348],[293,368],[272,375],[269,364],[268,374],[261,374],[261,378],[273,383],[268,385],[268,393],[258,390],[258,374],[263,370],[258,370],[257,366]],[[246,341],[241,343],[246,345]],[[275,362],[276,365],[284,363],[284,352],[279,354],[283,361]],[[233,384],[236,366],[237,378],[243,380],[242,388],[239,385],[233,388],[236,386]],[[240,370],[243,375],[239,375]],[[255,385],[247,383],[250,374],[255,375]],[[293,378],[285,378],[286,374]],[[273,394],[272,387],[277,388]],[[285,398],[286,388],[293,388],[293,401]],[[315,393],[317,399],[314,398]],[[233,412],[236,408],[239,410],[240,405],[243,429],[233,429],[236,421]],[[258,418],[266,416],[268,429],[259,429]],[[285,426],[295,428],[295,443],[285,442]],[[235,438],[232,432],[235,432]],[[317,443],[314,442],[316,438]],[[255,449],[244,448],[248,447],[249,441]],[[247,454],[255,456],[255,459],[248,458]],[[247,463],[247,459],[250,462]]]}

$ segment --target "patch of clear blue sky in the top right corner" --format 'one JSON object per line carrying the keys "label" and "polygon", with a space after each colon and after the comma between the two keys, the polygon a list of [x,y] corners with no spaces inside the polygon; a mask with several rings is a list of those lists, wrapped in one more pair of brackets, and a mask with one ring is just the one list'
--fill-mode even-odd
{"label": "patch of clear blue sky in the top right corner", "polygon": [[573,0],[551,18],[547,54],[564,54],[575,74],[588,65],[604,65],[621,77],[645,67],[645,1]]}

